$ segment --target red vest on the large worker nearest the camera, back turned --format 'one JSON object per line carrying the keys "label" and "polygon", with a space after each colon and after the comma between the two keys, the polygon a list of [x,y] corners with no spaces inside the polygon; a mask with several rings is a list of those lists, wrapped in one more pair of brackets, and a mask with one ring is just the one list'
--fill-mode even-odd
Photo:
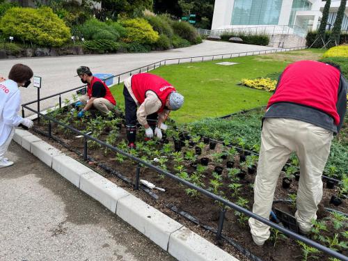
{"label": "red vest on the large worker nearest the camera, back turned", "polygon": [[337,68],[317,61],[298,61],[285,68],[267,109],[278,102],[309,106],[329,114],[338,125],[339,85],[340,70]]}

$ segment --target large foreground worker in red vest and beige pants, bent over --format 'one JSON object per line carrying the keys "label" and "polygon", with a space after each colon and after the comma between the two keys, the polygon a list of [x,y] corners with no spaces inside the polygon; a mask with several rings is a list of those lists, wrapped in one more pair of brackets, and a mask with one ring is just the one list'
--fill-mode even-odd
{"label": "large foreground worker in red vest and beige pants, bent over", "polygon": [[[300,162],[296,221],[307,234],[322,200],[322,172],[331,139],[347,110],[347,82],[338,65],[298,61],[285,68],[263,118],[253,212],[269,218],[281,169],[295,152]],[[269,238],[269,226],[249,219],[255,244]]]}

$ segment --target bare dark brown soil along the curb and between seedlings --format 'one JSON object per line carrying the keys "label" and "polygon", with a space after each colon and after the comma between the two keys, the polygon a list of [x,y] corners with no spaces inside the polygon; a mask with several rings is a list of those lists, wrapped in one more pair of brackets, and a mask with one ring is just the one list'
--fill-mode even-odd
{"label": "bare dark brown soil along the curb and between seedlings", "polygon": [[[47,126],[37,126],[38,129],[47,132]],[[81,127],[79,127],[81,129]],[[63,129],[58,129],[57,127],[53,126],[52,128],[52,134],[59,139],[61,139],[63,142],[67,143],[69,145],[70,149],[79,150],[80,152],[83,152],[84,148],[84,139],[75,138],[77,134],[72,134],[71,132],[63,132]],[[140,136],[140,135],[139,135]],[[49,143],[54,143],[55,146],[58,145],[58,143],[52,141],[51,139],[43,138],[47,140]],[[102,134],[99,139],[102,141],[105,141],[106,139],[106,133]],[[125,139],[125,129],[122,128],[120,131],[120,136],[118,136],[118,141],[122,141],[122,139]],[[58,145],[59,146],[59,145]],[[158,148],[160,148],[160,145],[157,145]],[[183,150],[187,150],[187,148],[184,148]],[[223,145],[216,145],[216,149],[214,151],[209,150],[209,145],[205,146],[205,149],[203,150],[203,155],[200,155],[198,159],[201,157],[209,157],[209,166],[207,168],[207,171],[205,171],[203,177],[203,184],[205,184],[205,189],[209,188],[209,182],[212,180],[212,171],[214,171],[214,166],[223,166],[223,185],[219,189],[219,193],[221,196],[226,196],[228,200],[231,202],[236,202],[237,197],[231,196],[231,190],[228,188],[228,184],[230,184],[230,180],[228,178],[228,171],[226,169],[226,159],[223,160],[223,162],[219,164],[214,164],[212,162],[212,153],[215,152],[221,152],[223,150]],[[66,150],[65,150],[66,151]],[[158,200],[154,200],[152,197],[148,196],[147,193],[144,193],[143,191],[134,191],[129,187],[129,184],[126,184],[125,182],[120,181],[117,177],[114,177],[113,175],[109,175],[108,173],[105,173],[100,168],[97,167],[97,163],[100,164],[106,164],[106,166],[109,166],[115,171],[118,171],[119,173],[122,173],[125,177],[128,177],[130,180],[134,180],[135,172],[136,172],[136,163],[134,161],[130,161],[129,159],[125,159],[122,163],[118,162],[116,160],[116,153],[107,151],[105,153],[104,148],[96,147],[88,148],[88,156],[93,157],[95,159],[95,162],[89,162],[89,165],[94,167],[97,171],[101,171],[104,176],[106,176],[109,180],[115,182],[116,184],[120,185],[120,187],[123,187],[129,191],[132,191],[132,193],[135,193],[136,196],[141,197],[143,200],[145,200],[150,205],[156,207],[157,209],[161,210],[161,212],[164,212],[165,214],[168,214],[168,216],[173,217],[177,221],[180,221],[181,223],[184,223],[185,226],[188,226],[191,228],[191,230],[198,232],[198,234],[203,235],[206,237],[209,241],[216,243],[214,239],[214,235],[211,232],[207,232],[207,230],[204,230],[203,228],[200,228],[199,226],[196,226],[195,224],[191,223],[190,221],[187,221],[187,219],[184,219],[182,216],[175,214],[171,209],[168,209],[166,205],[168,203],[171,203],[178,207],[179,209],[184,210],[184,212],[187,212],[191,214],[192,216],[196,217],[200,223],[211,226],[212,228],[217,228],[217,223],[219,221],[219,211],[221,207],[219,204],[215,203],[214,200],[207,198],[203,195],[198,195],[197,197],[188,196],[186,193],[187,187],[184,187],[181,184],[178,184],[175,182],[175,180],[172,180],[171,178],[164,177],[159,175],[158,173],[155,173],[155,171],[150,170],[149,168],[141,168],[141,179],[148,180],[154,184],[156,184],[157,187],[162,187],[166,189],[166,192],[163,193],[161,191],[154,191],[159,196]],[[73,153],[69,153],[72,157],[78,158],[81,160],[81,157],[78,157],[77,155]],[[141,156],[141,155],[139,155]],[[155,164],[154,162],[152,162]],[[193,173],[194,168],[190,166],[190,161],[184,161],[184,166],[187,168],[187,172]],[[86,163],[87,164],[87,163]],[[177,171],[174,171],[173,169],[173,160],[170,159],[166,163],[166,167],[168,168],[168,171],[171,173],[176,173]],[[235,157],[235,167],[239,167],[239,157]],[[276,188],[275,193],[275,199],[288,199],[289,193],[296,193],[298,182],[295,180],[292,181],[290,189],[283,189],[281,187],[281,180],[282,180],[283,174],[280,175],[280,178],[278,180],[278,185]],[[239,197],[243,197],[246,200],[248,200],[247,208],[252,209],[252,203],[253,203],[253,189],[252,184],[255,180],[255,175],[246,175],[246,178],[244,180],[241,180],[239,183],[242,184],[242,189],[240,191]],[[340,210],[341,212],[347,212],[347,200],[343,200],[342,205],[339,207],[334,207],[333,205],[329,204],[329,200],[332,195],[335,194],[335,190],[326,189],[326,186],[324,184],[324,195],[323,200],[321,203],[321,207],[319,208],[318,217],[319,219],[324,219],[327,216],[330,216],[329,212],[324,210],[324,207],[330,207],[333,209]],[[283,211],[294,214],[294,208],[290,206],[289,203],[276,203],[274,204],[274,207],[278,207],[279,209],[282,209]],[[342,229],[341,231],[344,231]],[[327,235],[333,235],[333,232],[341,232],[341,231],[331,231],[328,232]],[[239,223],[237,221],[237,216],[235,216],[234,211],[232,209],[228,209],[226,212],[226,220],[223,226],[223,235],[226,235],[227,237],[230,237],[231,239],[234,239],[236,242],[238,242],[240,245],[244,246],[244,248],[247,248],[251,253],[254,255],[257,255],[262,260],[281,260],[281,261],[290,261],[290,260],[301,260],[301,248],[299,247],[296,242],[294,242],[292,239],[282,239],[281,241],[276,242],[276,246],[274,246],[275,242],[272,242],[271,240],[268,240],[264,246],[256,246],[253,243],[253,240],[251,239],[251,234],[249,232],[248,223],[247,221],[244,223]],[[235,248],[227,244],[226,242],[222,246],[223,249],[228,251],[229,253],[232,253],[235,257],[239,258],[240,260],[247,260],[241,253],[239,253]],[[347,255],[347,251],[343,252],[345,255]],[[318,255],[322,260],[327,260],[326,255]]]}

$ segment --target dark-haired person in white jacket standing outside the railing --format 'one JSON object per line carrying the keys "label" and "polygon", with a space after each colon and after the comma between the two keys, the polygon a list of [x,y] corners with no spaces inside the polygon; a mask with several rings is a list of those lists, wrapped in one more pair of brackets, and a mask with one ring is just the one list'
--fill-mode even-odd
{"label": "dark-haired person in white jacket standing outside the railing", "polygon": [[0,168],[13,165],[13,161],[5,158],[5,153],[15,134],[15,127],[20,124],[31,128],[31,120],[20,117],[17,113],[21,104],[19,87],[28,87],[33,71],[20,63],[13,65],[8,79],[0,82]]}

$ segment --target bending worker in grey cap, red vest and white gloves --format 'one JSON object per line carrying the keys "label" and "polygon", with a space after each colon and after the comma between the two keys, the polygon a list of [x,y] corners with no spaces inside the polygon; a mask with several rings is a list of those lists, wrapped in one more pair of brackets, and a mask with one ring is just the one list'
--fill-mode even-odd
{"label": "bending worker in grey cap, red vest and white gloves", "polygon": [[184,103],[184,97],[171,84],[149,73],[134,74],[125,79],[123,95],[129,148],[135,148],[137,119],[145,128],[147,138],[152,139],[155,130],[155,135],[161,139],[161,129],[167,129],[164,122],[168,114],[180,109]]}

